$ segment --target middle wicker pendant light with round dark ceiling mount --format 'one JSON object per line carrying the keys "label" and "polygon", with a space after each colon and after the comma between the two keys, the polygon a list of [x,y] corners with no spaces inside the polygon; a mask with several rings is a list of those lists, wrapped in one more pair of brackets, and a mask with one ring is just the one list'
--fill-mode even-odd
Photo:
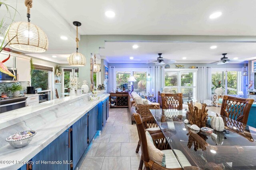
{"label": "middle wicker pendant light with round dark ceiling mount", "polygon": [[84,57],[84,55],[82,55],[81,53],[78,53],[78,27],[81,26],[82,24],[78,21],[74,21],[73,24],[76,26],[76,52],[72,53],[69,57],[68,57],[68,64],[70,66],[85,66],[86,64],[86,59]]}

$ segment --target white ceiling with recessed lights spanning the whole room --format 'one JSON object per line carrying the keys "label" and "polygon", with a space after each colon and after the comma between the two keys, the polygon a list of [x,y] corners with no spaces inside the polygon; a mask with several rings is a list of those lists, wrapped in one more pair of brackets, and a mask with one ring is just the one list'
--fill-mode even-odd
{"label": "white ceiling with recessed lights spanning the whole room", "polygon": [[[12,6],[16,5],[16,0],[5,2]],[[0,18],[5,13],[2,10],[4,10],[3,6],[1,6]],[[15,21],[26,21],[24,0],[18,0],[17,10],[19,14]],[[114,11],[116,16],[106,18],[104,13],[107,10]],[[218,11],[222,12],[222,16],[210,20],[210,14]],[[43,54],[30,55],[56,63],[66,63],[66,57],[76,48],[76,31],[72,24],[75,20],[82,23],[82,26],[79,27],[80,35],[255,36],[255,18],[256,0],[34,0],[33,8],[31,8],[31,22],[46,32],[49,49]],[[68,37],[68,40],[60,39],[61,35]],[[144,44],[147,43],[140,45]],[[143,57],[154,59],[158,52],[178,61],[180,58],[177,59],[177,57],[184,55],[188,58],[187,60],[195,61],[193,57],[196,59],[198,56],[221,57],[220,54],[224,52],[230,53],[230,57],[234,57],[235,54],[239,58],[256,56],[253,54],[255,46],[249,43],[225,43],[221,45],[222,50],[218,47],[215,51],[210,52],[208,51],[209,45],[206,44],[205,48],[202,48],[204,43],[200,45],[198,43],[151,43],[151,45],[145,45],[143,51],[142,48],[137,51],[132,49],[129,51],[128,43],[115,43],[116,47],[120,46],[115,49],[107,43],[106,49],[101,50],[100,53],[106,55],[108,60],[113,63],[124,62],[120,57],[130,55],[134,55],[135,60],[144,62]],[[239,47],[241,50],[235,47]],[[232,56],[232,54],[234,55]],[[52,58],[52,55],[56,55],[57,58]],[[163,57],[166,56],[163,55]],[[209,58],[201,59],[208,60]]]}

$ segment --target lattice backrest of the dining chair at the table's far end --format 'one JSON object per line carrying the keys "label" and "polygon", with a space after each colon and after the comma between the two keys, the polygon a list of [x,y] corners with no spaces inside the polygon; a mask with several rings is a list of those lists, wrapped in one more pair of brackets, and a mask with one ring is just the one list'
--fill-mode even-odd
{"label": "lattice backrest of the dining chair at the table's far end", "polygon": [[163,109],[182,110],[182,93],[168,94],[161,93]]}

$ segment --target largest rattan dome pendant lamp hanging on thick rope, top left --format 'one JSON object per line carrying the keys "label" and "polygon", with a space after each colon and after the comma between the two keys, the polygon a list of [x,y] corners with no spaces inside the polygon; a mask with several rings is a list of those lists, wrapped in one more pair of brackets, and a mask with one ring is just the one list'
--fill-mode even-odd
{"label": "largest rattan dome pendant lamp hanging on thick rope, top left", "polygon": [[28,21],[12,23],[7,31],[6,41],[15,49],[43,53],[48,49],[48,38],[38,26],[30,23],[30,8],[32,0],[25,0]]}

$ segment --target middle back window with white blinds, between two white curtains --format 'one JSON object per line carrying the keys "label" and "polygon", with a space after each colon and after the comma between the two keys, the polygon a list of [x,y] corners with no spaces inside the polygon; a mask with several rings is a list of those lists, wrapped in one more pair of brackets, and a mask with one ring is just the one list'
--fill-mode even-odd
{"label": "middle back window with white blinds, between two white curtains", "polygon": [[184,102],[196,99],[196,71],[166,71],[164,84],[182,93]]}

